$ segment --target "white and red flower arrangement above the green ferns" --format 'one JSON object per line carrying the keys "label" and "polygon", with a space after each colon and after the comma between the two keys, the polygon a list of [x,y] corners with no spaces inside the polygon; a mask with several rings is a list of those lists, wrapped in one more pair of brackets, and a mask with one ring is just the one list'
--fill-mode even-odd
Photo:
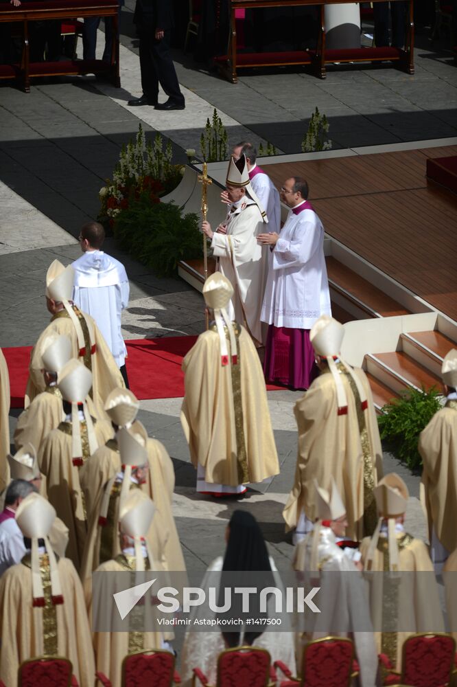
{"label": "white and red flower arrangement above the green ferns", "polygon": [[159,133],[154,142],[146,142],[140,124],[136,139],[122,147],[113,179],[106,179],[106,186],[99,190],[99,221],[112,228],[119,212],[138,201],[143,192],[148,192],[151,203],[159,203],[160,196],[176,188],[184,167],[172,164],[172,155],[171,141],[165,150]]}

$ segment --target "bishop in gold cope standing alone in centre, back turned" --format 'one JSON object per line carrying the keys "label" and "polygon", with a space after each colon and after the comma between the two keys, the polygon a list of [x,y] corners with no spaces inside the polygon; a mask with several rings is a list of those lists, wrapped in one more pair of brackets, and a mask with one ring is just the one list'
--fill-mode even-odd
{"label": "bishop in gold cope standing alone in centre, back turned", "polygon": [[197,469],[197,491],[242,494],[279,474],[265,381],[246,330],[231,322],[229,280],[215,272],[203,286],[215,322],[183,360],[181,423]]}

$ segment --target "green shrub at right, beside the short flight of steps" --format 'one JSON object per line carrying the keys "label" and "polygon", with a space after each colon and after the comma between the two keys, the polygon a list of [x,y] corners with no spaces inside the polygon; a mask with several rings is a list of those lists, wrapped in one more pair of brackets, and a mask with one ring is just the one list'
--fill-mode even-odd
{"label": "green shrub at right, beside the short flight of steps", "polygon": [[377,419],[379,433],[388,442],[392,453],[411,469],[422,465],[417,450],[419,434],[441,408],[440,392],[436,387],[425,391],[416,389],[403,392],[382,408]]}

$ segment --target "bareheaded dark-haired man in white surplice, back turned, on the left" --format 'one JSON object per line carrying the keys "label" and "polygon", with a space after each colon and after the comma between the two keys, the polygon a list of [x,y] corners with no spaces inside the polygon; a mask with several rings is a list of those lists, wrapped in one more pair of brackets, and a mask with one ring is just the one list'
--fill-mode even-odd
{"label": "bareheaded dark-haired man in white surplice, back turned, on the left", "polygon": [[79,238],[83,254],[72,264],[73,302],[95,319],[122,371],[127,350],[121,334],[121,313],[128,305],[130,293],[126,269],[119,260],[101,250],[105,230],[98,222],[85,224]]}

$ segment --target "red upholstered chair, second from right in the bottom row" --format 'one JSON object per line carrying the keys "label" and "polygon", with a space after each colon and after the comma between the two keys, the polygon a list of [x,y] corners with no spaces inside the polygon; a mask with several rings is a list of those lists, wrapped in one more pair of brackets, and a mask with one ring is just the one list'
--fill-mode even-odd
{"label": "red upholstered chair, second from right in the bottom row", "polygon": [[349,687],[359,671],[354,661],[353,643],[343,637],[324,637],[309,642],[303,649],[301,677],[292,677],[281,661],[276,661],[274,667],[288,678],[281,682],[281,687]]}

